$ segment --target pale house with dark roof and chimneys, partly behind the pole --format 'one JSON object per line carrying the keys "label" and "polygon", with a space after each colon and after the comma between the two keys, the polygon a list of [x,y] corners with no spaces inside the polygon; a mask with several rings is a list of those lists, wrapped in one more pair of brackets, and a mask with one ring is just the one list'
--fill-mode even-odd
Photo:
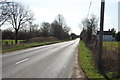
{"label": "pale house with dark roof and chimneys, partly behind the pole", "polygon": [[[97,37],[99,39],[99,32],[97,31]],[[103,41],[115,41],[112,31],[103,31]]]}

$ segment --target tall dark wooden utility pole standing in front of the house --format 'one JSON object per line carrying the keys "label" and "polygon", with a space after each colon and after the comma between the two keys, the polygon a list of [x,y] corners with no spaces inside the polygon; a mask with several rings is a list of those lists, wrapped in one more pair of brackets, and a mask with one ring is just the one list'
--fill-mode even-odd
{"label": "tall dark wooden utility pole standing in front of the house", "polygon": [[103,53],[104,9],[105,9],[105,0],[101,0],[100,32],[99,32],[99,52],[98,52],[98,69],[100,70],[101,73],[103,73],[102,53]]}

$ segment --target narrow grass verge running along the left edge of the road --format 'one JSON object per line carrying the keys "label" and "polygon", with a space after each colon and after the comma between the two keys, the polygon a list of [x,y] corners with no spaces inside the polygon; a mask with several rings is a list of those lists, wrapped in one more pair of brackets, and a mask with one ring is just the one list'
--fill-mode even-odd
{"label": "narrow grass verge running along the left edge of the road", "polygon": [[42,45],[48,45],[48,44],[53,44],[53,43],[58,43],[58,42],[60,42],[60,41],[20,44],[20,45],[16,45],[16,46],[11,46],[9,48],[5,48],[5,49],[2,50],[2,53],[15,51],[15,50],[20,50],[20,49],[25,49],[25,48],[30,48],[30,47],[37,47],[37,46],[42,46]]}

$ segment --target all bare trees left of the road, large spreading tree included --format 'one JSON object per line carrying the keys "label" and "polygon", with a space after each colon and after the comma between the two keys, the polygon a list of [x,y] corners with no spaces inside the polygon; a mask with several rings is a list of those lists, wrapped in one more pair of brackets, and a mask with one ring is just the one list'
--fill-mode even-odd
{"label": "all bare trees left of the road, large spreading tree included", "polygon": [[[59,14],[52,23],[34,24],[32,11],[18,2],[3,0],[0,3],[0,27],[11,24],[11,29],[2,30],[2,39],[26,40],[34,37],[56,37],[60,40],[70,39],[64,17]],[[9,27],[9,26],[8,26]]]}

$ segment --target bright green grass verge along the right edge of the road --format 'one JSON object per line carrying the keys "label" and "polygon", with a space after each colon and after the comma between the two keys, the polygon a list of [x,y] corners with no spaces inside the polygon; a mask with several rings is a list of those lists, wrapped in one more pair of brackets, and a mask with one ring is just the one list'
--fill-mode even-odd
{"label": "bright green grass verge along the right edge of the road", "polygon": [[84,70],[85,75],[89,79],[99,78],[101,80],[101,78],[104,78],[99,74],[97,68],[94,65],[91,51],[86,48],[85,44],[82,41],[80,41],[79,47],[79,63],[81,65],[81,68]]}

